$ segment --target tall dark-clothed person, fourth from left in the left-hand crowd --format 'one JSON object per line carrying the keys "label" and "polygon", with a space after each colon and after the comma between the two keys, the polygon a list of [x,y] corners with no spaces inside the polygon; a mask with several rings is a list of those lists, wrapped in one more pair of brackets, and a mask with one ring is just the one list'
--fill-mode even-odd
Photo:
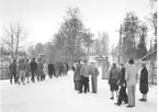
{"label": "tall dark-clothed person, fourth from left in the left-hand crowd", "polygon": [[35,77],[35,71],[37,70],[37,63],[35,61],[35,58],[33,58],[33,60],[31,61],[30,66],[31,66],[31,74],[32,74],[31,80],[33,82],[35,82],[34,77]]}

